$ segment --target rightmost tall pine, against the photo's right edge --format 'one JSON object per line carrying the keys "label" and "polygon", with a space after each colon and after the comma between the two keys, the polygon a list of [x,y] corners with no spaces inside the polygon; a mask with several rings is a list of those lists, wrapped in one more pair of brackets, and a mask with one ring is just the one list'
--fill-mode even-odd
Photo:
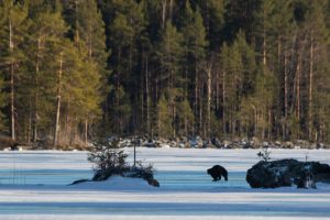
{"label": "rightmost tall pine, against the photo's right edge", "polygon": [[[324,111],[329,110],[329,89],[327,82],[329,79],[329,38],[330,30],[327,28],[327,6],[329,2],[319,1],[309,4],[306,12],[306,35],[308,36],[308,46],[306,48],[306,56],[308,57],[308,70],[306,84],[307,103],[306,124],[307,139],[319,142],[329,140],[326,133],[329,131],[329,117]],[[329,19],[328,19],[329,20]],[[317,88],[317,89],[316,89]],[[318,100],[319,99],[319,100]],[[315,105],[316,103],[316,105]],[[304,110],[304,109],[302,109]],[[319,119],[317,119],[319,116]],[[321,121],[319,121],[321,120]]]}

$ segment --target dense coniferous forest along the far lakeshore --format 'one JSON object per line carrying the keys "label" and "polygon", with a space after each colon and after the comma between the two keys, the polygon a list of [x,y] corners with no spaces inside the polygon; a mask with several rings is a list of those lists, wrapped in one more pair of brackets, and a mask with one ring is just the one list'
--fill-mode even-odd
{"label": "dense coniferous forest along the far lakeshore", "polygon": [[0,0],[0,131],[330,142],[329,0]]}

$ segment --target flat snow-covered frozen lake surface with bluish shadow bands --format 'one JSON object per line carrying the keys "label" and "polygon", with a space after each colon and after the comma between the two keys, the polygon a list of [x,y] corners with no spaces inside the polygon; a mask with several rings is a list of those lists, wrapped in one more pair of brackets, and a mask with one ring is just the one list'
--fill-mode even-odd
{"label": "flat snow-covered frozen lake surface with bluish shadow bands", "polygon": [[[125,150],[132,161],[132,148]],[[66,186],[90,178],[81,152],[1,152],[0,219],[330,219],[330,186],[251,189],[246,169],[256,150],[138,148],[161,188],[138,179]],[[330,151],[272,150],[272,158],[330,163]],[[211,182],[220,164],[229,182]]]}

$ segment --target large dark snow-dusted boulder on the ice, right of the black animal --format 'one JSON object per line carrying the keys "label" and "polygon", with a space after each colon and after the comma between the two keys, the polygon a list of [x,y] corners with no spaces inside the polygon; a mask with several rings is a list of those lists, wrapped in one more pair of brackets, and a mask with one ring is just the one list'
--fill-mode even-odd
{"label": "large dark snow-dusted boulder on the ice, right of the black animal", "polygon": [[277,188],[297,185],[314,188],[315,183],[330,184],[330,166],[319,162],[297,160],[261,161],[248,170],[246,182],[252,188]]}

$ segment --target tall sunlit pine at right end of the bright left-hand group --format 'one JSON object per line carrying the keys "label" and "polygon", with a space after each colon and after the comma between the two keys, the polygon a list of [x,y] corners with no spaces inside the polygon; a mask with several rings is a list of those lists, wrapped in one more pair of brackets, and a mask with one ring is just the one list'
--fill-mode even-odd
{"label": "tall sunlit pine at right end of the bright left-hand group", "polygon": [[[109,53],[106,48],[105,22],[97,2],[94,0],[75,0],[64,3],[64,13],[67,12],[66,20],[70,24],[73,40],[81,54],[80,59],[82,59],[85,68],[85,70],[81,69],[81,74],[85,74],[87,79],[86,84],[81,85],[86,88],[84,91],[82,91],[86,95],[85,102],[90,103],[87,107],[91,107],[85,108],[86,113],[84,116],[84,139],[85,144],[87,144],[89,124],[92,124],[94,120],[98,118],[96,117],[99,114],[98,105],[100,105],[100,99],[105,99],[109,88],[107,86],[109,72],[106,70]],[[73,12],[69,13],[69,11]],[[66,113],[67,118],[70,118],[68,110]]]}

